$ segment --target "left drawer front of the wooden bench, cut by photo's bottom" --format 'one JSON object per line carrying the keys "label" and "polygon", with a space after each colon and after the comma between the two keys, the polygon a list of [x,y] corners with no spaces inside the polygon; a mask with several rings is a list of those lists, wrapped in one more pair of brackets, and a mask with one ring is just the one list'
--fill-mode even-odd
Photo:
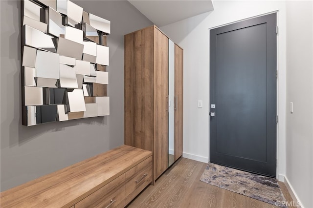
{"label": "left drawer front of the wooden bench, cut by photo's bottom", "polygon": [[[125,207],[125,173],[75,204],[75,208]],[[112,200],[112,201],[111,201]],[[113,202],[114,201],[114,202]]]}

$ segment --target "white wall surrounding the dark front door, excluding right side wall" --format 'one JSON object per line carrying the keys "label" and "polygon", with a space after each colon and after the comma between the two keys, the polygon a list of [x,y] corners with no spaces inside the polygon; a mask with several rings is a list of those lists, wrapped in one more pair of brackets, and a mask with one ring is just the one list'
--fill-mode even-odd
{"label": "white wall surrounding the dark front door, excluding right side wall", "polygon": [[[184,49],[183,156],[209,157],[209,28],[278,11],[278,173],[286,169],[286,4],[284,1],[214,1],[214,11],[161,27]],[[197,101],[203,100],[203,108]]]}

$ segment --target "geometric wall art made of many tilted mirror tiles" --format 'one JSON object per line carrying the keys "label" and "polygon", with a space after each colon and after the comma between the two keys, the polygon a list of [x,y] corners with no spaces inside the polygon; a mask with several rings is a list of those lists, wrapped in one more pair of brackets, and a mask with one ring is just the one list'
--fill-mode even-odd
{"label": "geometric wall art made of many tilted mirror tiles", "polygon": [[110,21],[70,0],[22,0],[22,124],[107,116]]}

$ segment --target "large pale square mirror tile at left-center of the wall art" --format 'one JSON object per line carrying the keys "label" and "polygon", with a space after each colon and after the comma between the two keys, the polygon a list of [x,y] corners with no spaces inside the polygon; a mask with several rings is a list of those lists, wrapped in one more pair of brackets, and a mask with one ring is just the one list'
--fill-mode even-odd
{"label": "large pale square mirror tile at left-center of the wall art", "polygon": [[37,51],[36,77],[59,79],[59,54]]}

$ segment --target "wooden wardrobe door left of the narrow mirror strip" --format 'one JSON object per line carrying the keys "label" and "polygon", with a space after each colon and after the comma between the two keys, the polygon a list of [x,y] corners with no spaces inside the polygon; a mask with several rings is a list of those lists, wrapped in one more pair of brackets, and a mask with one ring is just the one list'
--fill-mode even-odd
{"label": "wooden wardrobe door left of the narrow mirror strip", "polygon": [[155,28],[154,178],[168,168],[168,38]]}

